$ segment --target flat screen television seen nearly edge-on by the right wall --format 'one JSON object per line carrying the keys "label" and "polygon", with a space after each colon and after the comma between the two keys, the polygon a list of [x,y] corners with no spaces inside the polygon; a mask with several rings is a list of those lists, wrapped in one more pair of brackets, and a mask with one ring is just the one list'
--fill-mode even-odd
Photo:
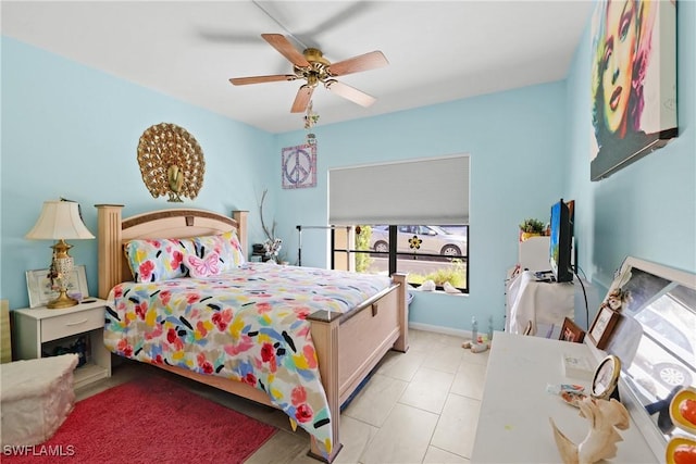
{"label": "flat screen television seen nearly edge-on by the right wall", "polygon": [[549,264],[558,283],[573,281],[573,214],[563,199],[551,206]]}

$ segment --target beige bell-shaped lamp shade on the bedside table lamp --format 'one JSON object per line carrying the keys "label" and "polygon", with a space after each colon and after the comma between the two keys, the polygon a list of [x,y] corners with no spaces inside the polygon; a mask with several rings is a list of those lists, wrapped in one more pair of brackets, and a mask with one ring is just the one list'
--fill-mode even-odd
{"label": "beige bell-shaped lamp shade on the bedside table lamp", "polygon": [[78,204],[61,200],[44,202],[41,215],[25,237],[35,240],[95,238],[79,217]]}

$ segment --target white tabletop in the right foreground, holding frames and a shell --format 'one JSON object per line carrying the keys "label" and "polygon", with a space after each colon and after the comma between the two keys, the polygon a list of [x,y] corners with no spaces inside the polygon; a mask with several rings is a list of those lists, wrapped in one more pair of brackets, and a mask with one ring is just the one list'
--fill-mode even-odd
{"label": "white tabletop in the right foreground, holding frames and a shell", "polygon": [[[579,410],[546,392],[547,384],[577,384],[589,380],[563,375],[562,355],[594,360],[584,343],[525,337],[496,331],[488,358],[486,384],[481,403],[472,463],[559,463],[549,417],[574,443],[589,429]],[[594,361],[593,361],[594,362]],[[596,363],[596,362],[595,362]],[[633,418],[612,462],[657,463]]]}

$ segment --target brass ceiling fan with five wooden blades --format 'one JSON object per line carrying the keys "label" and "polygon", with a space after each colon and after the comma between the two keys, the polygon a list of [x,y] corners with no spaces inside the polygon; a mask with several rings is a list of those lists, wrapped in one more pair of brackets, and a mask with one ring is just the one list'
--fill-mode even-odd
{"label": "brass ceiling fan with five wooden blades", "polygon": [[375,102],[374,97],[336,80],[334,77],[386,66],[389,62],[381,51],[372,51],[332,64],[324,58],[322,51],[319,49],[307,48],[300,53],[282,34],[261,34],[261,37],[293,63],[294,74],[233,77],[229,79],[233,85],[245,86],[248,84],[303,79],[306,84],[302,84],[297,91],[295,102],[293,102],[290,110],[291,113],[303,113],[307,110],[312,93],[320,83],[334,93],[362,106],[370,106]]}

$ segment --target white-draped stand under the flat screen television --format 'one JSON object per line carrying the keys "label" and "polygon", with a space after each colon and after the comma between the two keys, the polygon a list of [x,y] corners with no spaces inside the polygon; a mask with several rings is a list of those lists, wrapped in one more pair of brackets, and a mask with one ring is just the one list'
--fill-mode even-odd
{"label": "white-draped stand under the flat screen television", "polygon": [[575,319],[574,284],[556,283],[551,277],[539,279],[537,273],[524,271],[507,281],[506,331],[523,334],[532,322],[531,335],[558,338],[563,319]]}

